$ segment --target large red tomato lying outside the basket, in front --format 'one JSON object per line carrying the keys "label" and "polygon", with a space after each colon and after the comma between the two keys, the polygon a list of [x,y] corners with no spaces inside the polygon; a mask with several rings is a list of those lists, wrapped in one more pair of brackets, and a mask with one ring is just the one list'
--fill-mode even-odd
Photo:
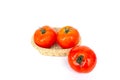
{"label": "large red tomato lying outside the basket, in front", "polygon": [[91,72],[97,62],[96,54],[87,46],[75,46],[68,54],[68,63],[80,73]]}

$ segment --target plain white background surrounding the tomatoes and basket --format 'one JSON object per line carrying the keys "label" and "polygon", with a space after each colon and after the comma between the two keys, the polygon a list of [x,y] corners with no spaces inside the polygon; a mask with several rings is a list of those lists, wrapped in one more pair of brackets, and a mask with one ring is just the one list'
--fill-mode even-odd
{"label": "plain white background surrounding the tomatoes and basket", "polygon": [[[77,28],[97,65],[76,73],[67,57],[46,57],[31,45],[43,25]],[[119,80],[119,0],[0,0],[0,80]]]}

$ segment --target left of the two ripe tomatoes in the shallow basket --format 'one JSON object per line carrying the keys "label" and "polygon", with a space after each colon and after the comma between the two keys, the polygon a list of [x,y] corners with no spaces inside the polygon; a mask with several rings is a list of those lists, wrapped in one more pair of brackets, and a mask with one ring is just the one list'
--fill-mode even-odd
{"label": "left of the two ripe tomatoes in the shallow basket", "polygon": [[43,26],[34,33],[34,42],[44,48],[50,48],[56,42],[56,32],[49,26]]}

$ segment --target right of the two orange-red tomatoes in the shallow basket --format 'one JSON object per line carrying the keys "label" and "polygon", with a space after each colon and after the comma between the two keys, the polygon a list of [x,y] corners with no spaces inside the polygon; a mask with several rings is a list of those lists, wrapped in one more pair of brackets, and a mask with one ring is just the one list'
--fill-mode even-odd
{"label": "right of the two orange-red tomatoes in the shallow basket", "polygon": [[80,39],[79,32],[71,26],[65,26],[61,28],[57,34],[57,43],[62,48],[71,48],[77,45],[79,39]]}

